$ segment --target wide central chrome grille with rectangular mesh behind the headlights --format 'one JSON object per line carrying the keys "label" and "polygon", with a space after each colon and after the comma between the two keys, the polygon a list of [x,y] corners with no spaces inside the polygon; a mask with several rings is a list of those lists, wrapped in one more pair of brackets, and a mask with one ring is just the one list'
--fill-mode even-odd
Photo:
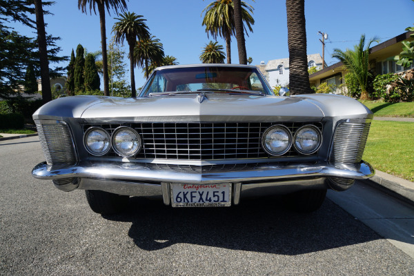
{"label": "wide central chrome grille with rectangular mesh behind the headlights", "polygon": [[[275,124],[284,124],[294,132],[305,123],[272,122],[214,122],[214,123],[128,123],[128,124],[88,124],[99,126],[110,135],[119,126],[128,126],[141,135],[143,148],[135,158],[139,159],[251,159],[269,157],[262,149],[263,132]],[[312,124],[312,123],[306,123]],[[314,123],[322,131],[321,123]],[[317,155],[315,152],[313,155]],[[291,148],[282,157],[302,156]],[[110,150],[104,157],[118,157]]]}

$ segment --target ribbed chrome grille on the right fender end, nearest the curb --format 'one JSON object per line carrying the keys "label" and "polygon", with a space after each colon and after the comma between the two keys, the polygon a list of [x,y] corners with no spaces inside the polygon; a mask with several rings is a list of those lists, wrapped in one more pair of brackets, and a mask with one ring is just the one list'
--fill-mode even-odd
{"label": "ribbed chrome grille on the right fender end, nearest the curb", "polygon": [[359,164],[364,154],[371,123],[342,123],[335,130],[331,161],[340,164]]}

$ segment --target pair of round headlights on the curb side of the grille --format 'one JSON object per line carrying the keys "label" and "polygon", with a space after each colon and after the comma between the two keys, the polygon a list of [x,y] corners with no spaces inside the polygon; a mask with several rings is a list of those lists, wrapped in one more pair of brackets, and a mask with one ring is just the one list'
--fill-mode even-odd
{"label": "pair of round headlights on the curb side of the grille", "polygon": [[286,126],[270,126],[262,137],[262,146],[269,155],[284,155],[292,144],[296,150],[304,155],[311,155],[316,152],[322,143],[322,133],[313,125],[306,125],[299,128],[292,137]]}

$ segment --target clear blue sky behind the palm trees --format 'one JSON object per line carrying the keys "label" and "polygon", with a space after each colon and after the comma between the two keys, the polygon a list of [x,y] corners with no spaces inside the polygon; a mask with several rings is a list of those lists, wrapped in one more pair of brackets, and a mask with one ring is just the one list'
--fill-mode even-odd
{"label": "clear blue sky behind the palm trees", "polygon": [[[53,15],[46,16],[45,22],[48,23],[48,33],[61,37],[58,42],[62,48],[61,55],[70,56],[72,48],[76,49],[79,43],[89,52],[100,50],[99,15],[81,13],[77,1],[55,1],[55,5],[49,7]],[[201,26],[201,12],[211,1],[213,0],[130,0],[127,4],[128,11],[141,14],[147,19],[150,32],[164,44],[166,55],[176,57],[180,64],[187,64],[200,63],[201,48],[210,40]],[[244,1],[255,9],[253,33],[246,37],[247,56],[253,58],[253,64],[288,57],[286,2]],[[326,41],[325,59],[331,65],[336,62],[331,58],[333,49],[353,48],[361,34],[366,34],[368,39],[377,36],[381,41],[386,41],[405,32],[406,27],[413,26],[414,1],[307,0],[305,16],[308,54],[322,55],[321,37],[317,32],[326,32],[329,39]],[[117,16],[113,12],[106,14],[108,41],[112,37],[110,32],[115,17]],[[35,35],[19,23],[15,23],[14,28],[22,34]],[[225,46],[223,39],[218,41]],[[238,63],[235,38],[232,39],[232,61]],[[128,60],[126,63],[129,64]],[[137,87],[145,82],[140,68],[135,68],[135,79]]]}

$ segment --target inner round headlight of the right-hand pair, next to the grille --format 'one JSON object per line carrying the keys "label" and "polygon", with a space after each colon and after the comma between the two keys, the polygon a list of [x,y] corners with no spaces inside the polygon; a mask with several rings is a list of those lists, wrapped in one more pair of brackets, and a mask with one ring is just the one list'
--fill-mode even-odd
{"label": "inner round headlight of the right-hand pair, next to the grille", "polygon": [[269,155],[283,155],[292,146],[292,135],[286,126],[270,126],[262,137],[262,145]]}

